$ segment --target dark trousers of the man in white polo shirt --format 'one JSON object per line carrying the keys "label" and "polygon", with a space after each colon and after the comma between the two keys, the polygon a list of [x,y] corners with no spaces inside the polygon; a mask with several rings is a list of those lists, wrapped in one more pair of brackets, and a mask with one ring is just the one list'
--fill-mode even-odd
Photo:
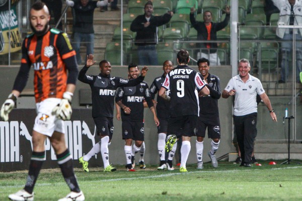
{"label": "dark trousers of the man in white polo shirt", "polygon": [[242,162],[251,163],[254,141],[257,136],[257,113],[233,117]]}

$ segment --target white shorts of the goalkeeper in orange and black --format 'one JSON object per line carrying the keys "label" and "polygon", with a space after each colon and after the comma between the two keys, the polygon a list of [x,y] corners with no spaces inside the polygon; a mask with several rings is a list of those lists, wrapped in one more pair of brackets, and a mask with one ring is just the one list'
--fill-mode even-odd
{"label": "white shorts of the goalkeeper in orange and black", "polygon": [[64,121],[52,115],[52,110],[61,102],[60,98],[47,98],[36,104],[37,117],[35,119],[34,131],[52,136],[53,132],[64,133]]}

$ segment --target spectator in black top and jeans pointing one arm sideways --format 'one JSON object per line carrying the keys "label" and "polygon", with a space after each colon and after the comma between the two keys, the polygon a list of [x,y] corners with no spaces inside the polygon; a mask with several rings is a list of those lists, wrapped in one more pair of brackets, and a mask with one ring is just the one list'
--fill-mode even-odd
{"label": "spectator in black top and jeans pointing one arm sideways", "polygon": [[144,15],[137,16],[130,26],[130,30],[136,32],[135,45],[138,45],[138,64],[158,65],[156,52],[157,27],[168,23],[173,16],[173,12],[169,11],[162,16],[153,16],[151,1],[145,4],[144,12]]}

